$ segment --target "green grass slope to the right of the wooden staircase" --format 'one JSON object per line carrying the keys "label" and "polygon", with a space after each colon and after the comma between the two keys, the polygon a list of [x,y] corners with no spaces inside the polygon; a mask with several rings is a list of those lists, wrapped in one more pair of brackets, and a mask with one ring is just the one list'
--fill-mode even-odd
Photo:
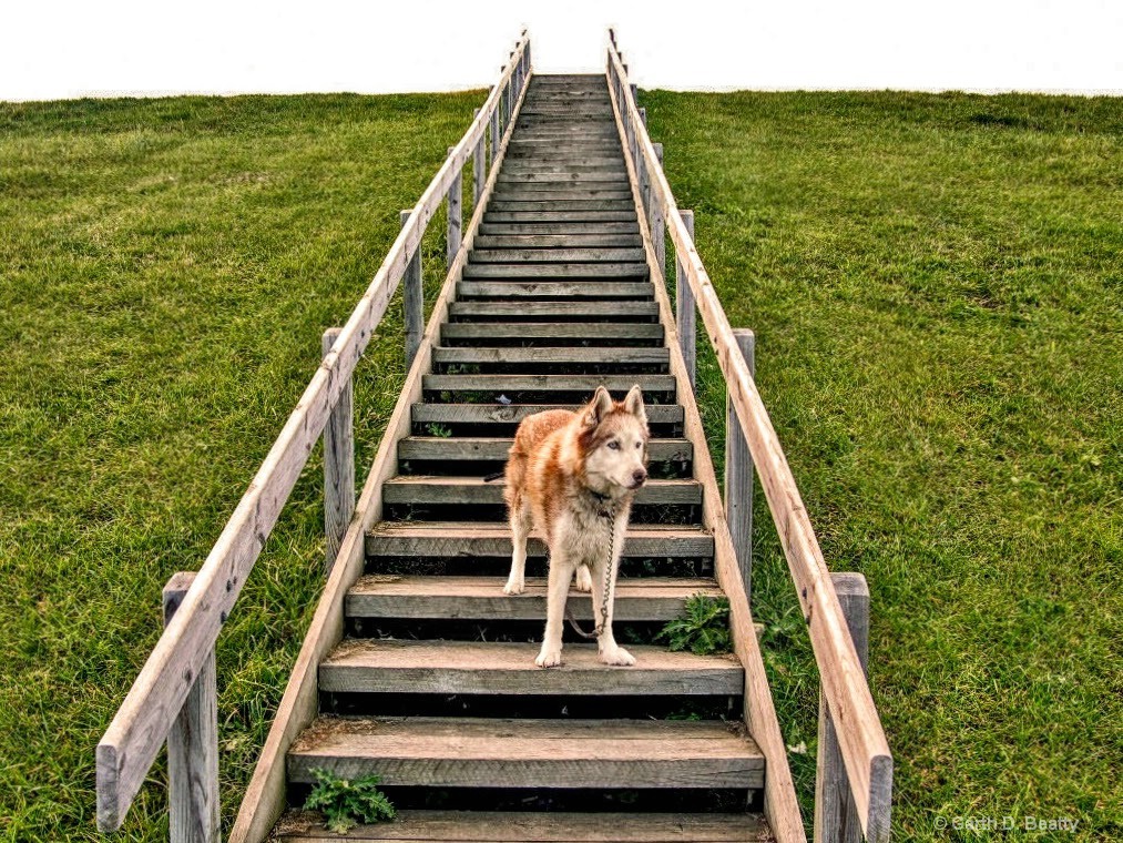
{"label": "green grass slope to the right of the wooden staircase", "polygon": [[[642,99],[828,564],[869,581],[897,837],[1123,839],[1123,101]],[[700,383],[720,451],[712,355]],[[818,679],[763,496],[755,524],[806,803]]]}

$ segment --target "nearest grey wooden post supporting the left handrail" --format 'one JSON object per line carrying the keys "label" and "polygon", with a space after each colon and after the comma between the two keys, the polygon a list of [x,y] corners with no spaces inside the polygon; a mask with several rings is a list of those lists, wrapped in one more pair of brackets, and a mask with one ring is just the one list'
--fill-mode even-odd
{"label": "nearest grey wooden post supporting the left handrail", "polygon": [[[164,626],[191,588],[193,571],[164,586]],[[220,840],[218,803],[218,682],[214,650],[208,654],[167,733],[168,832],[172,843]]]}

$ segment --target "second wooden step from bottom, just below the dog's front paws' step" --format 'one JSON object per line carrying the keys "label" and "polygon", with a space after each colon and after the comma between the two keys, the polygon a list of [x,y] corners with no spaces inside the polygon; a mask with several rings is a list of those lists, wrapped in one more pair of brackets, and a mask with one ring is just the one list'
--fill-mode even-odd
{"label": "second wooden step from bottom, just below the dog's front paws' step", "polygon": [[765,763],[712,720],[319,717],[287,768],[293,782],[321,768],[387,787],[759,788]]}

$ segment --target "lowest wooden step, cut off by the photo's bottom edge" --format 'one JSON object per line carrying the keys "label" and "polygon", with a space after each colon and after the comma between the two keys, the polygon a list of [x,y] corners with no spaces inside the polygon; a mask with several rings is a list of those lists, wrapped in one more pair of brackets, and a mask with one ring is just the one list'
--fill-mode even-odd
{"label": "lowest wooden step, cut off by the photo's bottom edge", "polygon": [[285,843],[767,843],[759,814],[575,814],[562,812],[401,810],[393,823],[344,836],[316,815],[293,812],[274,832]]}

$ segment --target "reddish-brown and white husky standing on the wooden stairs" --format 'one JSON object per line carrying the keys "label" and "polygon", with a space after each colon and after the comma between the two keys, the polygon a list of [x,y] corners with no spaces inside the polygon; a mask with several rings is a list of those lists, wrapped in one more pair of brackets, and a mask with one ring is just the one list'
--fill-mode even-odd
{"label": "reddish-brown and white husky standing on the wooden stairs", "polygon": [[[546,635],[535,660],[540,668],[562,663],[562,616],[574,574],[578,590],[593,592],[601,661],[636,663],[612,636],[612,598],[632,498],[647,481],[649,436],[638,386],[623,401],[613,401],[597,387],[593,400],[577,413],[547,410],[519,425],[503,493],[513,544],[503,591],[523,591],[527,534],[533,523],[550,555]],[[611,580],[608,588],[605,575]]]}

